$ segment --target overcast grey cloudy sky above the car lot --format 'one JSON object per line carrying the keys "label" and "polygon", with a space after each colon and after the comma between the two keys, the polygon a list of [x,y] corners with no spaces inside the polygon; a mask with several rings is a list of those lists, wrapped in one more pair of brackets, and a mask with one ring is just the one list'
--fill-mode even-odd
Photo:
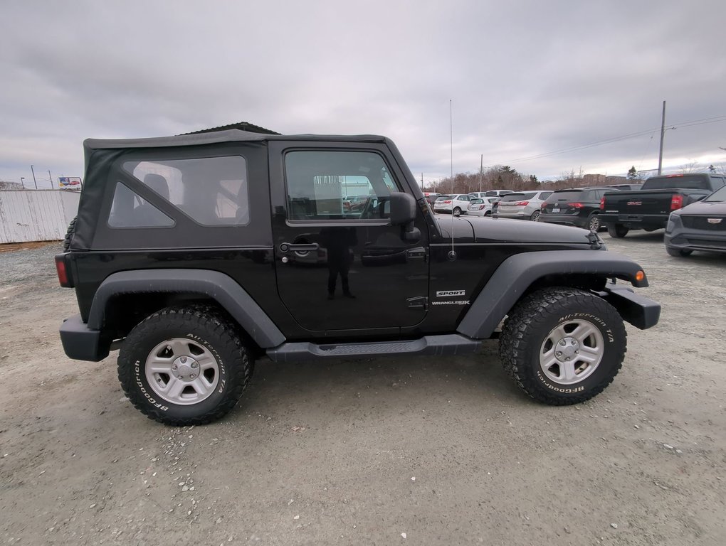
{"label": "overcast grey cloudy sky above the car lot", "polygon": [[[377,133],[417,178],[726,167],[726,3],[0,3],[0,180],[83,175],[84,138],[248,121]],[[451,109],[450,109],[451,105]],[[451,120],[449,112],[452,112]]]}

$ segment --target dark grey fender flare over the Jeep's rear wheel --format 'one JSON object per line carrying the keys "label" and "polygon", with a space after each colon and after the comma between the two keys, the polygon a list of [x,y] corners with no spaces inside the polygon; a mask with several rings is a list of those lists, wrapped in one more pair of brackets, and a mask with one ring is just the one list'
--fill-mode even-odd
{"label": "dark grey fender flare over the Jeep's rear wheel", "polygon": [[280,329],[240,284],[224,273],[206,269],[142,269],[113,273],[96,291],[87,326],[91,330],[102,330],[106,306],[112,297],[163,292],[210,297],[264,349],[285,342]]}

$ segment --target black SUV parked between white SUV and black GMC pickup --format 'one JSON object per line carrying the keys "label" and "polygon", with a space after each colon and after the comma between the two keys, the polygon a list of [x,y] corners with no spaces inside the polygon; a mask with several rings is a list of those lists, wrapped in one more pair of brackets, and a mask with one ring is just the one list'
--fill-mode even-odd
{"label": "black SUV parked between white SUV and black GMC pickup", "polygon": [[565,224],[598,231],[600,229],[600,199],[613,188],[558,189],[542,203],[539,221]]}

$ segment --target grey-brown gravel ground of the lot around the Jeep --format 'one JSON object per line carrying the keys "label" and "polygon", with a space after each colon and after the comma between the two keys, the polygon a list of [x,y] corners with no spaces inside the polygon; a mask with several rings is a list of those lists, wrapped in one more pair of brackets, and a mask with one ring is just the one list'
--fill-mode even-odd
{"label": "grey-brown gravel ground of the lot around the Jeep", "polygon": [[52,257],[0,253],[0,544],[722,545],[726,257],[603,239],[663,305],[595,400],[539,405],[480,355],[259,361],[203,427],[149,421],[115,354],[68,360]]}

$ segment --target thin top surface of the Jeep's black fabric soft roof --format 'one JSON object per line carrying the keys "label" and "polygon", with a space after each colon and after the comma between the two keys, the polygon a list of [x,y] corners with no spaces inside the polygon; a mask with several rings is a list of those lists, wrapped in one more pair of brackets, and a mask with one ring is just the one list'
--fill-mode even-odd
{"label": "thin top surface of the Jeep's black fabric soft roof", "polygon": [[83,141],[83,147],[87,151],[91,151],[112,148],[164,148],[167,146],[197,146],[199,144],[217,144],[220,142],[269,140],[384,142],[386,137],[380,135],[267,135],[229,129],[228,131],[215,131],[213,133],[162,136],[158,138],[86,138]]}

